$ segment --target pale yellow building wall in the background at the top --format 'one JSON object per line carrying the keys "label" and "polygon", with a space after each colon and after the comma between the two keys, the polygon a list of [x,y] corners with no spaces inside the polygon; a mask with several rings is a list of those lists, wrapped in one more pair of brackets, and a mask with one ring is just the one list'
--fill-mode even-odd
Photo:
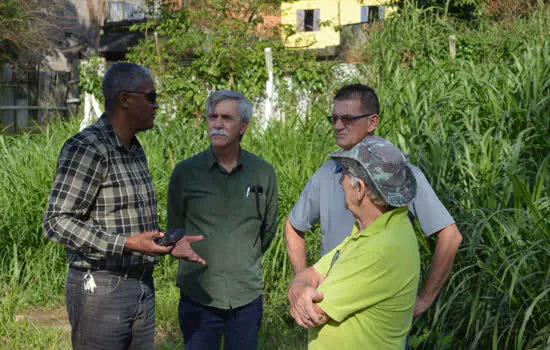
{"label": "pale yellow building wall in the background at the top", "polygon": [[[316,32],[297,32],[286,42],[287,47],[322,49],[340,45],[340,33],[334,27],[361,22],[361,6],[385,5],[387,0],[304,0],[283,2],[281,23],[296,30],[297,11],[319,9],[321,25]],[[386,14],[389,13],[386,9]]]}

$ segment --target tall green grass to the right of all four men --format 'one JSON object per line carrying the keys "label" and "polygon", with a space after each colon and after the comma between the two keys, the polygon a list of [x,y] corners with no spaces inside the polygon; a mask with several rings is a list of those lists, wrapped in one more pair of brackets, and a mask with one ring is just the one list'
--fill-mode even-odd
{"label": "tall green grass to the right of all four men", "polygon": [[[535,20],[548,35],[548,17]],[[401,60],[391,83],[376,82],[381,134],[424,169],[465,238],[447,288],[416,319],[420,348],[550,346],[550,46],[534,37],[507,55]]]}

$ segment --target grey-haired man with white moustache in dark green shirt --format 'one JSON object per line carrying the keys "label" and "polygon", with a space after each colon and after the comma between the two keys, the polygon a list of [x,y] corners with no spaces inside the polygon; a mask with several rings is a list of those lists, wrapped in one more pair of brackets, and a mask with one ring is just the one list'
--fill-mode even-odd
{"label": "grey-haired man with white moustache in dark green shirt", "polygon": [[240,147],[251,117],[240,93],[210,95],[211,146],[180,162],[170,179],[168,228],[204,237],[193,244],[195,259],[188,244],[172,251],[185,257],[177,276],[185,349],[217,350],[222,335],[225,349],[257,348],[261,258],[277,231],[277,180],[269,163]]}

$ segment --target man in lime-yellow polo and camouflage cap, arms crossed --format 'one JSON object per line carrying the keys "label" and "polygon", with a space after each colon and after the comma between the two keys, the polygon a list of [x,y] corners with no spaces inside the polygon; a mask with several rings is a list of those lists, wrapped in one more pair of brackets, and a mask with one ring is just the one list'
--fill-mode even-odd
{"label": "man in lime-yellow polo and camouflage cap, arms crossed", "polygon": [[416,180],[389,141],[367,137],[332,153],[343,168],[346,207],[358,232],[290,283],[290,312],[311,349],[405,347],[420,273],[407,203]]}

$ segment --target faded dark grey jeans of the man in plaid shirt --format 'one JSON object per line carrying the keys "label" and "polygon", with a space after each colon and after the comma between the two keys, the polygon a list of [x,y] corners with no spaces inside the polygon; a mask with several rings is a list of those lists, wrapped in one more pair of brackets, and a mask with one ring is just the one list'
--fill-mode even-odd
{"label": "faded dark grey jeans of the man in plaid shirt", "polygon": [[[141,272],[140,272],[141,271]],[[97,270],[96,287],[84,290],[87,271],[69,268],[65,301],[73,349],[153,349],[153,269]]]}

